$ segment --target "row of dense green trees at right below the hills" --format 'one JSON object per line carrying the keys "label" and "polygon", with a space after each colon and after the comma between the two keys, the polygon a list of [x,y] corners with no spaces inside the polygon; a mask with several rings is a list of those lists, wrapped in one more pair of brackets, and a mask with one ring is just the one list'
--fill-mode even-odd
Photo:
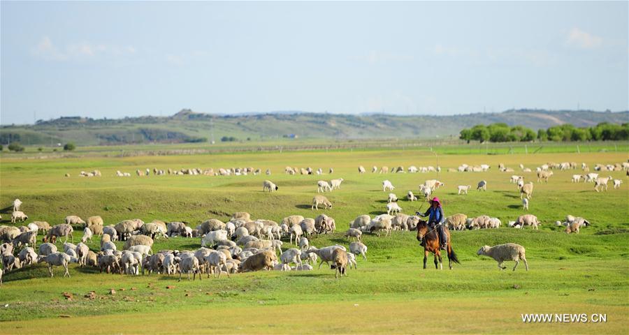
{"label": "row of dense green trees at right below the hills", "polygon": [[568,141],[608,141],[629,140],[629,124],[609,124],[602,122],[596,126],[577,128],[572,124],[562,124],[548,129],[540,129],[535,133],[533,129],[524,126],[507,124],[478,124],[461,131],[461,140],[468,143],[472,140],[479,142],[531,142],[533,140],[568,142]]}

